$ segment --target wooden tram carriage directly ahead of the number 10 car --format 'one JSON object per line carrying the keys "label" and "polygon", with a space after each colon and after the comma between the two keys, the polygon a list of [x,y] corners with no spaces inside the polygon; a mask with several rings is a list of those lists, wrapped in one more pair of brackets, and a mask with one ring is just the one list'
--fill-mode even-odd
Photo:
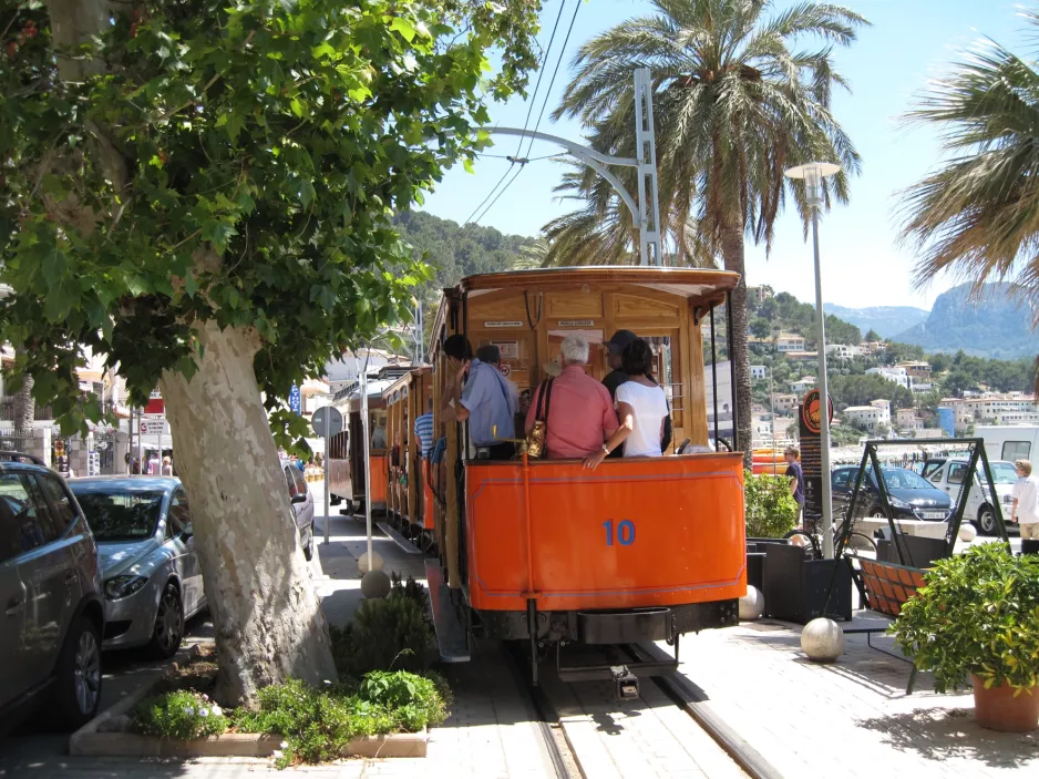
{"label": "wooden tram carriage directly ahead of the number 10 car", "polygon": [[425,413],[433,397],[433,369],[421,366],[402,376],[382,393],[387,409],[387,440],[399,443],[399,454],[387,458],[387,516],[420,550],[429,552],[433,536],[433,482],[414,433],[414,420]]}

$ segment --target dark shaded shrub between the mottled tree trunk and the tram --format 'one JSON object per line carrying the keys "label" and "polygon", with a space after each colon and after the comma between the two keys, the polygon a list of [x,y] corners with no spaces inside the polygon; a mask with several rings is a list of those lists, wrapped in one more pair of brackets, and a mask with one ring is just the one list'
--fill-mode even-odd
{"label": "dark shaded shrub between the mottled tree trunk and the tram", "polygon": [[372,670],[423,670],[434,658],[433,628],[424,603],[401,587],[384,599],[363,601],[346,629],[331,631],[332,657],[343,677]]}

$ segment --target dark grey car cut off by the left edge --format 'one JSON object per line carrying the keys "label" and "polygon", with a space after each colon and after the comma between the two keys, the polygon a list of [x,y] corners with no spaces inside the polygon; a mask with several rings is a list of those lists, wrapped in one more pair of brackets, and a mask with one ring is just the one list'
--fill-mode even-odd
{"label": "dark grey car cut off by the left edge", "polygon": [[64,479],[0,452],[0,731],[38,707],[74,729],[101,703],[97,547]]}

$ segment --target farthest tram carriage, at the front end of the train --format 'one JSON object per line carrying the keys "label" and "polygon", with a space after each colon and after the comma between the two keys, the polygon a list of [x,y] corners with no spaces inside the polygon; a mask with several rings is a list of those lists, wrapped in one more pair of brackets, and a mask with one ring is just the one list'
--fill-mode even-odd
{"label": "farthest tram carriage, at the front end of the train", "polygon": [[[383,391],[394,383],[402,375],[407,375],[411,366],[383,366],[378,373],[368,380],[368,434],[374,435],[376,428],[387,427],[387,403]],[[332,505],[347,503],[347,511],[361,511],[367,495],[364,494],[364,445],[361,427],[361,387],[351,385],[341,390],[332,399],[332,406],[342,414],[343,430],[332,435],[329,441],[329,496]],[[372,511],[383,512],[387,509],[387,455],[393,439],[389,431],[385,433],[387,447],[369,448],[371,467]]]}

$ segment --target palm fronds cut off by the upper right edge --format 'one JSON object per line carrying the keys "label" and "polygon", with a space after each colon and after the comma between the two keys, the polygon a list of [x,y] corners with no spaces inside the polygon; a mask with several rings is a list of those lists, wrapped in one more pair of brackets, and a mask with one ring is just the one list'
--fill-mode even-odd
{"label": "palm fronds cut off by the upper right edge", "polygon": [[[1039,12],[1022,11],[1039,28]],[[919,96],[911,123],[938,129],[949,158],[904,193],[916,283],[943,270],[1010,281],[1039,327],[1039,72],[999,44],[957,63]]]}

